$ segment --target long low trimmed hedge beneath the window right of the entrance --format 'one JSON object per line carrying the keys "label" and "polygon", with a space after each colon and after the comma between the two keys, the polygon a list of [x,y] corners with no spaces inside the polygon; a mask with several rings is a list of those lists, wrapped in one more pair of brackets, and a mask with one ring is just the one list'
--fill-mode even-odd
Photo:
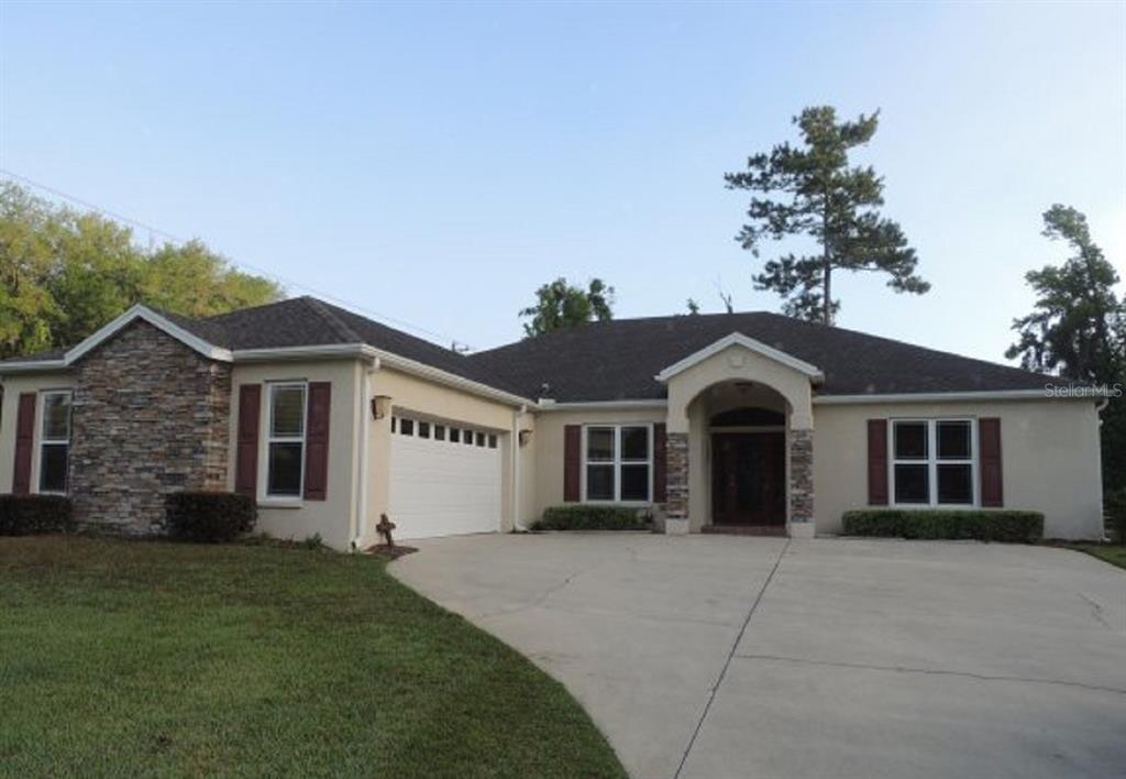
{"label": "long low trimmed hedge beneath the window right of the entrance", "polygon": [[844,512],[843,526],[846,535],[1035,543],[1044,538],[1044,514],[1009,510],[863,508]]}

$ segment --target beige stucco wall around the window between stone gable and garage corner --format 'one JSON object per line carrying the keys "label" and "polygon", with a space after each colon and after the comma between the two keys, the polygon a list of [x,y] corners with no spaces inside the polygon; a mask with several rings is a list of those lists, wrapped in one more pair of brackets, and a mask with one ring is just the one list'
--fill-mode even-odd
{"label": "beige stucco wall around the window between stone gable and garage corner", "polygon": [[[303,540],[320,533],[324,543],[347,549],[356,526],[359,444],[359,382],[363,363],[358,360],[241,364],[234,366],[231,398],[231,455],[227,488],[234,489],[238,461],[239,388],[261,383],[258,450],[258,528],[283,539]],[[267,435],[269,432],[268,382],[328,381],[332,384],[329,411],[329,484],[324,501],[266,498]]]}

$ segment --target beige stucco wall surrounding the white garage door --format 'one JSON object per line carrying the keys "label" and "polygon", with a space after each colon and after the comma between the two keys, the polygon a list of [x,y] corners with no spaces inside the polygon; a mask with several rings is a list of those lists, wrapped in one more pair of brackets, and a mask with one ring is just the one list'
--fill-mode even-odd
{"label": "beige stucco wall surrounding the white garage door", "polygon": [[[520,448],[516,443],[513,430],[518,423],[522,427],[534,428],[535,419],[531,415],[521,415],[516,406],[391,368],[379,368],[368,374],[368,392],[370,397],[388,396],[392,414],[405,414],[446,424],[461,422],[495,433],[501,450],[502,469],[501,530],[512,529],[518,502],[515,489],[516,472],[521,469],[526,471],[528,468],[524,462],[517,466],[513,463],[529,450],[529,446]],[[378,541],[375,525],[379,521],[379,515],[388,508],[391,492],[391,415],[379,421],[373,419],[368,424],[366,468],[368,494],[363,533],[365,543],[375,543]],[[521,489],[520,493],[522,495],[520,501],[530,499],[526,489]]]}

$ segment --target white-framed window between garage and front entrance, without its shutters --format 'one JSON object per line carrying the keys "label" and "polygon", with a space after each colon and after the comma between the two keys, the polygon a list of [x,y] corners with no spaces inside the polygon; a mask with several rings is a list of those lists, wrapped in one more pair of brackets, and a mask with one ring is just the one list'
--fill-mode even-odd
{"label": "white-framed window between garage and front entrance, without its shutters", "polygon": [[653,472],[650,426],[591,425],[586,433],[586,499],[649,501]]}

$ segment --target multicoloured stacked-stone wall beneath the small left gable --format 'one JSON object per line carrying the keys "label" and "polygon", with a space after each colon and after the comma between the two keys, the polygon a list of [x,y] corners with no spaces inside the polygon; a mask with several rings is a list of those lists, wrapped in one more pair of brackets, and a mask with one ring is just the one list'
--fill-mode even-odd
{"label": "multicoloured stacked-stone wall beneath the small left gable", "polygon": [[134,321],[75,379],[69,492],[81,525],[160,532],[168,493],[226,488],[230,365]]}

